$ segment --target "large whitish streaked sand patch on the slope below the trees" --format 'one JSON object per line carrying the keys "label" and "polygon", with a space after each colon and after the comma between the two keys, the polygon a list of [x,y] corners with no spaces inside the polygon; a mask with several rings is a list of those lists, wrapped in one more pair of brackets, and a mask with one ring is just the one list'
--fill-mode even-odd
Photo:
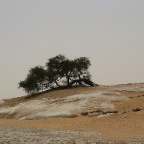
{"label": "large whitish streaked sand patch on the slope below the trees", "polygon": [[15,107],[0,108],[0,114],[13,115],[15,119],[39,119],[47,117],[78,116],[89,107],[99,109],[114,109],[112,101],[125,101],[116,92],[94,92],[72,95],[65,98],[30,100]]}

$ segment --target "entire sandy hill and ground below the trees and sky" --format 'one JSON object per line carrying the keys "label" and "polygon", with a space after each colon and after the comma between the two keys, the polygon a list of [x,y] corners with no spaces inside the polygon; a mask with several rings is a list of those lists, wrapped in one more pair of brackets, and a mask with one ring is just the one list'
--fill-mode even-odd
{"label": "entire sandy hill and ground below the trees and sky", "polygon": [[0,144],[144,143],[144,84],[51,91],[0,104]]}

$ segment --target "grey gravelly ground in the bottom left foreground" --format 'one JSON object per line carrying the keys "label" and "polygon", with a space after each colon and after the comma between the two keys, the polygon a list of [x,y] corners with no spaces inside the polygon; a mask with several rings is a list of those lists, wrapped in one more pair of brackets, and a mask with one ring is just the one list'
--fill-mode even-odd
{"label": "grey gravelly ground in the bottom left foreground", "polygon": [[0,131],[1,144],[81,144],[97,142],[104,144],[104,142],[100,142],[100,136],[95,132],[14,126],[1,126]]}

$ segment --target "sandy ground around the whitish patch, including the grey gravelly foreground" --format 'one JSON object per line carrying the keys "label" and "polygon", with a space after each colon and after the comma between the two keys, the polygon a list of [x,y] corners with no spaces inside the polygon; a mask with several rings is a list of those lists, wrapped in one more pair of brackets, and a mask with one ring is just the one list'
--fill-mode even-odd
{"label": "sandy ground around the whitish patch, including the grey gravelly foreground", "polygon": [[[61,143],[144,143],[144,84],[117,85],[111,87],[82,88],[56,91],[32,97],[65,97],[82,92],[112,91],[129,98],[128,101],[113,101],[118,113],[97,118],[96,116],[80,116],[75,118],[47,118],[39,120],[0,119],[0,144],[61,144]],[[108,94],[109,95],[109,94]],[[1,104],[15,106],[29,99],[16,98]],[[140,108],[134,112],[133,108]]]}

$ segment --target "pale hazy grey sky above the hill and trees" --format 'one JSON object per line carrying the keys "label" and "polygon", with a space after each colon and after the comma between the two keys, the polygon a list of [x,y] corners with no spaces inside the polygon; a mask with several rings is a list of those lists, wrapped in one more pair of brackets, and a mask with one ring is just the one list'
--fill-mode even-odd
{"label": "pale hazy grey sky above the hill and trees", "polygon": [[57,54],[90,57],[98,84],[144,82],[144,0],[0,0],[0,99]]}

